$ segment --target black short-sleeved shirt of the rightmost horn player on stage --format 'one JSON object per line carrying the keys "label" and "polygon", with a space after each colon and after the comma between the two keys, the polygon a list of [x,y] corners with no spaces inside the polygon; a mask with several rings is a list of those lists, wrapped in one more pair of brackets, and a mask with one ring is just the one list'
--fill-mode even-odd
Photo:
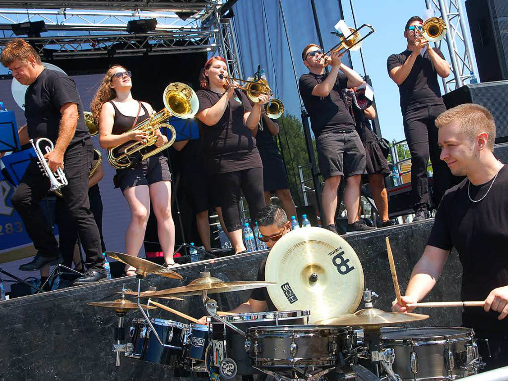
{"label": "black short-sleeved shirt of the rightmost horn player on stage", "polygon": [[[444,60],[444,56],[438,48],[433,47],[432,49]],[[387,61],[388,73],[393,68],[403,65],[410,55],[411,50],[404,50],[402,53],[390,55]],[[409,75],[398,86],[402,114],[428,105],[444,104],[439,89],[437,72],[430,60],[428,49],[423,56],[418,54]]]}

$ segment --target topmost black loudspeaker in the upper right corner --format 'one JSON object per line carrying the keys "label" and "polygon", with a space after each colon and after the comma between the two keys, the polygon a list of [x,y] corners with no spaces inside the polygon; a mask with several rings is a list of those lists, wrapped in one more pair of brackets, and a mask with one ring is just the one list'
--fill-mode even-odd
{"label": "topmost black loudspeaker in the upper right corner", "polygon": [[466,11],[480,79],[508,79],[508,3],[466,0]]}

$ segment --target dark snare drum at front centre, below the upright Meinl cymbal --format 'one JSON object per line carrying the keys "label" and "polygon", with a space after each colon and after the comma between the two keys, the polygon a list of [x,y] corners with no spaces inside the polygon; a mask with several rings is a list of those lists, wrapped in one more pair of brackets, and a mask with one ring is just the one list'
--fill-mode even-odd
{"label": "dark snare drum at front centre, below the upright Meinl cymbal", "polygon": [[351,354],[353,331],[337,326],[274,326],[247,329],[245,348],[261,368],[344,365]]}

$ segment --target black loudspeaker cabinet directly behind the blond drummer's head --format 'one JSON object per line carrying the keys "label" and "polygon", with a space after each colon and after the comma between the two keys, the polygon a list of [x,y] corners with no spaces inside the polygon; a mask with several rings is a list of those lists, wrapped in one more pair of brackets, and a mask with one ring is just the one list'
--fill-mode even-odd
{"label": "black loudspeaker cabinet directly behind the blond drummer's head", "polygon": [[496,141],[508,141],[508,81],[467,84],[443,95],[446,108],[476,103],[489,109],[496,122]]}

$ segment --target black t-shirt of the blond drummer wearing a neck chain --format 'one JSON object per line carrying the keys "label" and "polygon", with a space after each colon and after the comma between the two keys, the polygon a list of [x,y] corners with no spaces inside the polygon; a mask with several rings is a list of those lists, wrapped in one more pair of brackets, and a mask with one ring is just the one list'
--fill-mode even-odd
{"label": "black t-shirt of the blond drummer wearing a neck chain", "polygon": [[[471,184],[471,198],[482,198],[491,183]],[[478,301],[487,298],[494,288],[508,285],[508,166],[501,168],[480,202],[469,200],[468,185],[465,179],[444,194],[427,244],[443,250],[457,249],[464,267],[461,300]],[[464,309],[462,322],[475,330],[508,332],[508,318],[498,320],[497,316],[499,312],[470,307]]]}

